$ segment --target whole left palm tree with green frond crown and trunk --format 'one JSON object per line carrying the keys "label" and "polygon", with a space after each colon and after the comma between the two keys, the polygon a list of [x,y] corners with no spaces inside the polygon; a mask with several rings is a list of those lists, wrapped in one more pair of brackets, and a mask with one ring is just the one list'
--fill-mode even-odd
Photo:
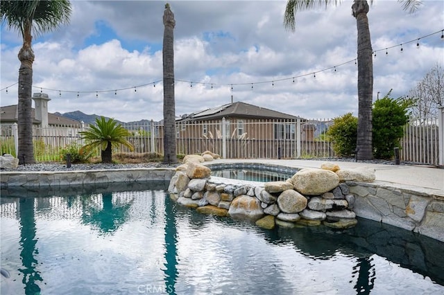
{"label": "whole left palm tree with green frond crown and trunk", "polygon": [[67,24],[71,16],[71,3],[66,0],[57,1],[1,1],[1,23],[8,28],[18,30],[23,38],[23,46],[19,51],[19,102],[18,130],[19,163],[35,163],[33,147],[32,87],[34,53],[31,48],[33,30],[40,35],[56,30],[61,24]]}

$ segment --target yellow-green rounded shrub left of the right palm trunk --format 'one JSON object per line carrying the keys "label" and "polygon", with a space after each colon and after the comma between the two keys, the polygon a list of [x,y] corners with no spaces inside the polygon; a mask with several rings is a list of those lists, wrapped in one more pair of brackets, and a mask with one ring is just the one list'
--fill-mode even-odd
{"label": "yellow-green rounded shrub left of the right palm trunk", "polygon": [[337,155],[351,156],[356,150],[358,118],[352,113],[333,119],[333,125],[327,130],[327,136],[333,141],[333,150]]}

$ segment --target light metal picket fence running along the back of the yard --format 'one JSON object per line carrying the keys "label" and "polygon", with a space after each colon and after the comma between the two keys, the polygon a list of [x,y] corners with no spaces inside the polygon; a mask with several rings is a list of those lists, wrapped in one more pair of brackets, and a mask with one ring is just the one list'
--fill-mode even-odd
{"label": "light metal picket fence running along the back of the yard", "polygon": [[[332,120],[212,120],[176,123],[178,154],[199,154],[210,150],[226,159],[303,159],[335,157],[332,141],[325,132]],[[35,127],[36,161],[60,161],[60,152],[69,145],[83,145],[79,134],[87,125]],[[131,136],[134,153],[163,153],[163,126],[144,121],[124,124]],[[1,127],[2,153],[15,156],[17,125]],[[400,159],[415,163],[439,164],[438,119],[411,119],[404,127]],[[126,147],[115,151],[130,152]],[[99,151],[97,151],[99,155]]]}

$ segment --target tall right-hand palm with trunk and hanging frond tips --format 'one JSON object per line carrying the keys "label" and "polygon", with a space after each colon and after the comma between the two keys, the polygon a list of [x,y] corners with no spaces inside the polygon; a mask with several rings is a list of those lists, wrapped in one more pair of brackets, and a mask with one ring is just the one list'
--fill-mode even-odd
{"label": "tall right-hand palm with trunk and hanging frond tips", "polygon": [[[415,11],[421,1],[398,0],[403,3],[402,9]],[[284,13],[284,26],[294,31],[296,28],[296,12],[316,7],[338,5],[340,0],[289,0]],[[370,3],[373,1],[370,0]],[[357,159],[373,159],[372,143],[372,103],[373,103],[373,51],[368,28],[368,3],[366,0],[354,0],[352,15],[357,23],[357,64],[358,64],[358,130]]]}

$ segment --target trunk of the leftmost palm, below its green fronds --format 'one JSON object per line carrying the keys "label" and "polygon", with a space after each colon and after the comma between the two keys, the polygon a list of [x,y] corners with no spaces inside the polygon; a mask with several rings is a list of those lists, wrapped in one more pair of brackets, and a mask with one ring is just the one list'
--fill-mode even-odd
{"label": "trunk of the leftmost palm, below its green fronds", "polygon": [[17,123],[19,132],[19,164],[35,163],[33,146],[32,90],[34,53],[31,48],[31,24],[26,26],[23,34],[23,46],[19,51],[19,102],[17,105]]}

